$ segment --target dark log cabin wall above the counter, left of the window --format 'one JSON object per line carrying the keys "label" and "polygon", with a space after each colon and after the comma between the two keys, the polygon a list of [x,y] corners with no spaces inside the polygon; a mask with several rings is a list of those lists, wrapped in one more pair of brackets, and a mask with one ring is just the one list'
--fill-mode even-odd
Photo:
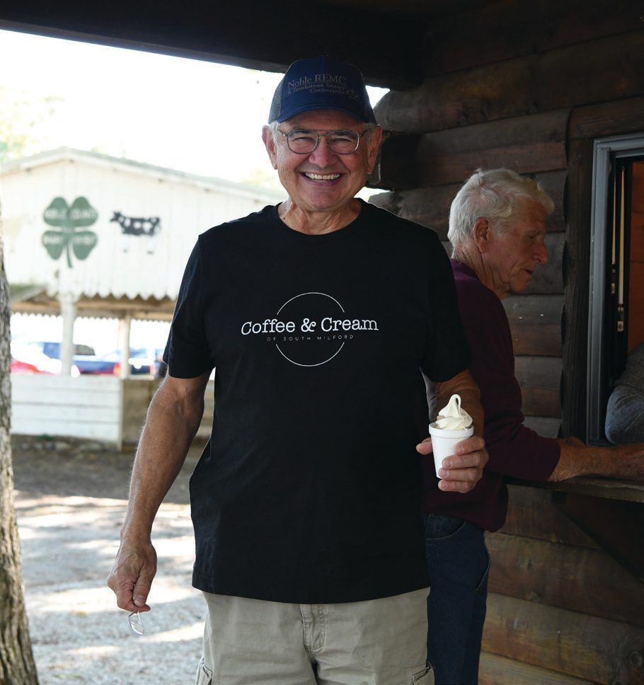
{"label": "dark log cabin wall above the counter, left of the window", "polygon": [[[500,3],[464,15],[457,28],[453,20],[432,25],[425,81],[391,91],[376,107],[387,137],[373,185],[392,192],[374,202],[431,226],[443,241],[449,204],[476,168],[529,174],[555,200],[548,265],[524,294],[504,301],[524,413],[548,435],[562,422],[565,434],[585,434],[592,146],[595,137],[644,130],[638,9]],[[508,25],[511,35],[500,28]]]}

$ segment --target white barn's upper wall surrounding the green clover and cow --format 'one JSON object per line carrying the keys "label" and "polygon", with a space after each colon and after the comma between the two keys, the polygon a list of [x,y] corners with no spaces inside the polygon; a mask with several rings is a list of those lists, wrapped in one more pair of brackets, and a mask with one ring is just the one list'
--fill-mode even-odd
{"label": "white barn's upper wall surrounding the green clover and cow", "polygon": [[[74,298],[177,297],[197,236],[224,221],[284,200],[284,192],[203,178],[80,151],[52,151],[4,163],[0,170],[4,258],[11,284],[45,285]],[[86,229],[98,243],[85,259],[67,252],[54,259],[45,246],[43,212],[54,197],[71,205],[86,197],[98,212]],[[154,236],[127,235],[113,221],[156,217]]]}

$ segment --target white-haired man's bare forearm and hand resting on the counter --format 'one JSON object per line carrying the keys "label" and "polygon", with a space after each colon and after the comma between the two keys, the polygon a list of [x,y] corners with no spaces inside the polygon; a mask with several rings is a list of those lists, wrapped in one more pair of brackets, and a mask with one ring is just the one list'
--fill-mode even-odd
{"label": "white-haired man's bare forearm and hand resting on the counter", "polygon": [[563,438],[558,443],[561,456],[548,480],[575,476],[644,480],[644,443],[594,447],[585,445],[576,437]]}

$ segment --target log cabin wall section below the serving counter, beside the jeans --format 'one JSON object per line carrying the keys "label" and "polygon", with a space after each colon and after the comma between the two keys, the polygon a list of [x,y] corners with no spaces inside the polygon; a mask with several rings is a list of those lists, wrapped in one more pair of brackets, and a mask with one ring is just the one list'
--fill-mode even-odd
{"label": "log cabin wall section below the serving counter, beside the jeans", "polygon": [[644,682],[641,578],[566,507],[592,507],[611,525],[626,510],[633,526],[644,525],[638,502],[510,485],[507,522],[485,538],[492,567],[480,685]]}

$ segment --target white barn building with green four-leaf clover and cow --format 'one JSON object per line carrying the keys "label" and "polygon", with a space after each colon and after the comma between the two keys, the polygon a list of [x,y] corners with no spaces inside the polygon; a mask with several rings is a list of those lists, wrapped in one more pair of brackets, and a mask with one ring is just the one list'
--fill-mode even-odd
{"label": "white barn building with green four-leaf clover and cow", "polygon": [[[13,379],[13,430],[122,442],[124,384],[115,381],[124,379],[109,379],[110,392],[120,398],[108,400],[120,403],[110,420],[118,427],[97,426],[96,415],[105,418],[105,396],[96,412],[88,412],[86,429],[68,425],[71,415],[81,415],[91,403],[81,398],[81,386],[98,388],[92,382],[98,379],[69,377],[76,317],[119,319],[121,358],[127,359],[133,319],[171,318],[197,236],[285,197],[285,192],[69,148],[3,163],[0,219],[11,309],[62,314],[63,320],[62,374]],[[121,364],[122,374],[129,368]],[[103,392],[108,379],[100,380]],[[74,406],[56,408],[50,402],[45,409],[46,399],[38,410],[29,404],[35,395],[59,403],[70,382]],[[34,383],[49,384],[50,393],[23,388]],[[52,412],[58,414],[47,422],[44,417]],[[35,415],[40,425],[34,427]]]}

